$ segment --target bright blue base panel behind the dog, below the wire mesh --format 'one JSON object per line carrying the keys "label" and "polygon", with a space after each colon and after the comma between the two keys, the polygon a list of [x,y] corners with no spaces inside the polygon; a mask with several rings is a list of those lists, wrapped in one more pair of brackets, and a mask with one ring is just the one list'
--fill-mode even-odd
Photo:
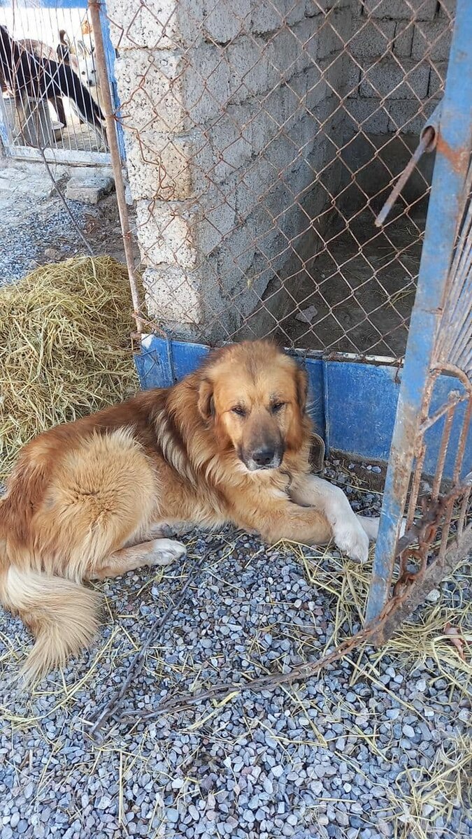
{"label": "bright blue base panel behind the dog, below the wire mesh", "polygon": [[[144,336],[141,352],[135,357],[141,387],[169,387],[195,370],[207,352],[208,347],[202,344]],[[307,358],[303,363],[310,379],[310,414],[327,451],[335,449],[353,458],[386,463],[395,425],[401,371],[388,365],[328,361],[323,357]],[[457,379],[439,377],[433,393],[432,410],[444,403],[450,391],[458,389]],[[454,442],[459,437],[462,415],[458,409],[444,469],[445,477],[452,477]],[[429,430],[426,474],[435,472],[442,430],[443,421]],[[464,464],[471,461],[472,429]]]}

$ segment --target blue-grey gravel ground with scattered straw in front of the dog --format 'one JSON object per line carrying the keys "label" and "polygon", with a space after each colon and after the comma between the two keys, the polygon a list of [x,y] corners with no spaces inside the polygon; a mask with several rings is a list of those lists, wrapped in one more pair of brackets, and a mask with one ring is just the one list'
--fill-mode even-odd
{"label": "blue-grey gravel ground with scattered straw in front of the dog", "polygon": [[[350,486],[349,468],[327,474],[359,508],[380,507],[378,493]],[[382,656],[354,653],[307,684],[115,723],[92,743],[90,721],[196,559],[201,571],[149,651],[126,713],[290,669],[359,628],[370,566],[335,550],[268,550],[229,529],[184,540],[181,564],[99,586],[97,644],[32,697],[12,686],[28,633],[1,614],[0,839],[472,836],[472,670],[440,637],[448,621],[467,628],[467,566]]]}

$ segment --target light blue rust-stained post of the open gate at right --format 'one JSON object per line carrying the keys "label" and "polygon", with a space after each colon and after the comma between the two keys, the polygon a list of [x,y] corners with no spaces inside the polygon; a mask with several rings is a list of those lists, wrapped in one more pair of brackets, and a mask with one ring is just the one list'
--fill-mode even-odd
{"label": "light blue rust-stained post of the open gate at right", "polygon": [[[472,2],[458,0],[417,295],[406,345],[405,367],[375,550],[367,622],[381,612],[390,591],[396,542],[410,481],[417,422],[448,281],[471,148]],[[455,379],[454,384],[457,386]],[[472,458],[466,455],[464,460],[470,463]]]}

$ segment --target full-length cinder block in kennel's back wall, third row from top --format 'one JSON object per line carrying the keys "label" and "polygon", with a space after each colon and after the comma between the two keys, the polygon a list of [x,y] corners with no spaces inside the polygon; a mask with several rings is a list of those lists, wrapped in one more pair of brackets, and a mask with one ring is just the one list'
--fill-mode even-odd
{"label": "full-length cinder block in kennel's back wall, third row from top", "polygon": [[425,99],[429,85],[429,65],[385,59],[364,71],[360,81],[361,96],[387,99]]}

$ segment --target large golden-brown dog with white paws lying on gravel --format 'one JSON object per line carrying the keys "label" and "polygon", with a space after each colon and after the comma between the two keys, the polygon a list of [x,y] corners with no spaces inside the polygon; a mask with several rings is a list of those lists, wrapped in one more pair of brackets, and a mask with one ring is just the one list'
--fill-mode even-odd
{"label": "large golden-brown dog with white paws lying on gravel", "polygon": [[307,377],[265,341],[212,352],[173,388],[39,435],[0,502],[0,598],[36,638],[37,679],[87,645],[98,596],[82,583],[185,553],[165,524],[232,522],[274,543],[334,539],[367,556],[377,521],[310,474]]}

